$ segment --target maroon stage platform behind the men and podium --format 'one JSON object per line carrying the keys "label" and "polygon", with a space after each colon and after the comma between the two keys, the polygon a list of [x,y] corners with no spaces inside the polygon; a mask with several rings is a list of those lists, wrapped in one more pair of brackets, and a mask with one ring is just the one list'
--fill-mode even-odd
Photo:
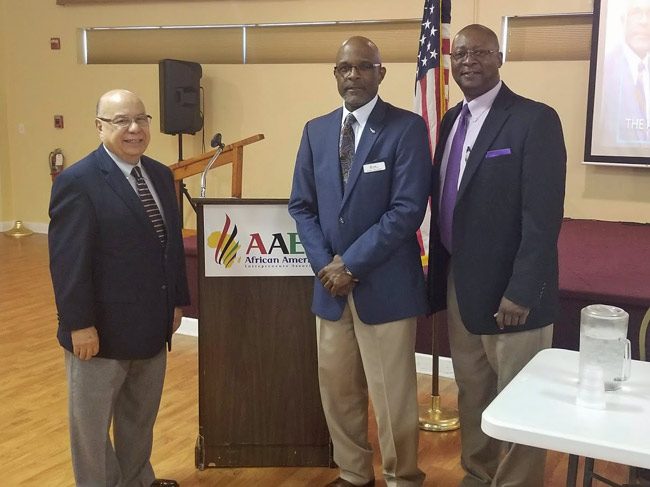
{"label": "maroon stage platform behind the men and podium", "polygon": [[[184,242],[192,296],[192,306],[185,308],[185,313],[196,318],[196,237]],[[580,310],[589,304],[610,304],[630,314],[628,337],[633,356],[638,358],[639,327],[650,308],[650,224],[565,219],[558,248],[561,310],[553,346],[577,350]],[[449,357],[445,314],[440,313],[437,319],[439,355]],[[418,320],[416,351],[431,353],[431,318]]]}

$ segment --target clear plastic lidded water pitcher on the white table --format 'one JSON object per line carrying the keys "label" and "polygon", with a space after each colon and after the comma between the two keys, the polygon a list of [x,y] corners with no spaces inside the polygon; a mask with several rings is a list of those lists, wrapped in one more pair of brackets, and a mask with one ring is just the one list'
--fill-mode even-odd
{"label": "clear plastic lidded water pitcher on the white table", "polygon": [[588,365],[601,367],[606,391],[621,388],[630,378],[631,344],[627,312],[616,306],[592,304],[580,312],[580,378]]}

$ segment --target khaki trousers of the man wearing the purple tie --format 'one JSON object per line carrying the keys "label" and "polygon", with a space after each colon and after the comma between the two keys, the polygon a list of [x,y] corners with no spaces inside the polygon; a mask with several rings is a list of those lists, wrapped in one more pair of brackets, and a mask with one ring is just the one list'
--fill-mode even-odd
{"label": "khaki trousers of the man wearing the purple tie", "polygon": [[[495,310],[496,312],[496,310]],[[463,487],[542,487],[546,450],[490,438],[481,415],[537,352],[551,346],[553,325],[497,335],[473,335],[463,325],[454,277],[447,281],[447,324],[458,385]]]}

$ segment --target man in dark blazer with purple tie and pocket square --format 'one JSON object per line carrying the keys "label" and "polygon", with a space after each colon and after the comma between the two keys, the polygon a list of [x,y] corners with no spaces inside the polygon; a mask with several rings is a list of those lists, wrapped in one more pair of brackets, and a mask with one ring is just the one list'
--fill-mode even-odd
{"label": "man in dark blazer with purple tie and pocket square", "polygon": [[487,27],[454,38],[451,71],[465,99],[443,118],[434,156],[429,292],[434,311],[447,309],[461,485],[534,487],[546,452],[500,445],[480,424],[496,394],[551,345],[566,151],[555,111],[510,91],[501,63]]}

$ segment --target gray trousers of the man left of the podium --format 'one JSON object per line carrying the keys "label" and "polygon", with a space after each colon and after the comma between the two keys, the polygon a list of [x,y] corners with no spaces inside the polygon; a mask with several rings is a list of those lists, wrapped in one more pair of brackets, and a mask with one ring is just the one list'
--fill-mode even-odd
{"label": "gray trousers of the man left of the podium", "polygon": [[144,360],[84,361],[65,352],[78,487],[149,487],[155,480],[149,458],[166,363],[164,348]]}

